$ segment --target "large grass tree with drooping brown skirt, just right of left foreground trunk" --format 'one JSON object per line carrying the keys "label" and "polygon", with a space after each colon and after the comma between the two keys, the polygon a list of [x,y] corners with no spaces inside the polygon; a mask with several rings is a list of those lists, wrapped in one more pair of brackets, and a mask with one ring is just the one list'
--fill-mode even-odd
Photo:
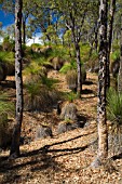
{"label": "large grass tree with drooping brown skirt, just right of left foreground trunk", "polygon": [[29,82],[26,84],[24,107],[31,111],[50,111],[59,98],[60,95],[55,89],[40,82]]}

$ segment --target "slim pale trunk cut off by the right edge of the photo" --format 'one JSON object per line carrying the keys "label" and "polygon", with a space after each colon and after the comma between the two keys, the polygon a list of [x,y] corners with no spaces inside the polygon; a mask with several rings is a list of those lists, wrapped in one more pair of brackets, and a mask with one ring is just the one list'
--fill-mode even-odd
{"label": "slim pale trunk cut off by the right edge of the photo", "polygon": [[122,93],[122,14],[121,14],[120,68],[118,75],[118,92]]}

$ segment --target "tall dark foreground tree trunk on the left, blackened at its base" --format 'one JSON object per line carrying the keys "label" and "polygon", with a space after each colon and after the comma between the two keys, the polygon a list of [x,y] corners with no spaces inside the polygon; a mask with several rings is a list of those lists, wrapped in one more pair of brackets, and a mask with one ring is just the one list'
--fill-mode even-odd
{"label": "tall dark foreground tree trunk on the left, blackened at its base", "polygon": [[15,82],[16,82],[16,124],[13,130],[10,157],[19,156],[19,139],[23,120],[23,80],[22,80],[22,5],[15,1]]}

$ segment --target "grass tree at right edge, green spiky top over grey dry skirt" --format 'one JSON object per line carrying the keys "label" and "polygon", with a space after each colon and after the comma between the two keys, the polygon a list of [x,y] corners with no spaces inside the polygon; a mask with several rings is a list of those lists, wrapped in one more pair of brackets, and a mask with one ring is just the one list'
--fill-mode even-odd
{"label": "grass tree at right edge, green spiky top over grey dry skirt", "polygon": [[109,148],[112,148],[113,155],[120,154],[122,145],[122,93],[118,93],[110,88],[107,93],[107,115],[111,121],[109,130],[108,143]]}

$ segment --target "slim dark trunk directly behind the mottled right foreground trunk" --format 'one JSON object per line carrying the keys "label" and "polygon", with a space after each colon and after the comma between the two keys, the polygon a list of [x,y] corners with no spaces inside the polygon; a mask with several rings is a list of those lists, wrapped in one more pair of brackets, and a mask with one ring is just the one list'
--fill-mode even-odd
{"label": "slim dark trunk directly behind the mottled right foreground trunk", "polygon": [[108,25],[108,58],[107,58],[107,88],[110,87],[110,51],[111,51],[111,42],[112,42],[112,28],[113,28],[113,17],[114,17],[114,11],[116,11],[116,0],[111,0],[110,4],[110,21]]}

